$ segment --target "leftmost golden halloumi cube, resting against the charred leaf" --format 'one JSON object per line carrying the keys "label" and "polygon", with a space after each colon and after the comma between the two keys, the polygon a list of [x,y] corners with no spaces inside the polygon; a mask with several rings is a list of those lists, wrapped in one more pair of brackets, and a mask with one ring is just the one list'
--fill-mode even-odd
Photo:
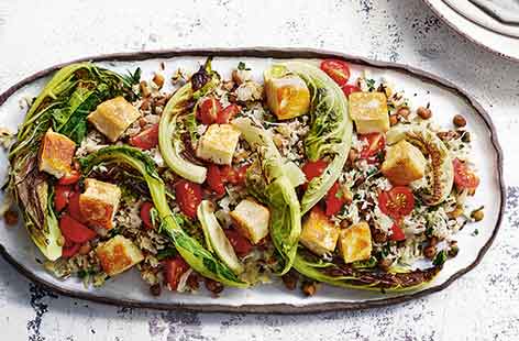
{"label": "leftmost golden halloumi cube, resting against the charred leaf", "polygon": [[64,134],[47,130],[40,147],[38,169],[60,178],[69,174],[76,143]]}

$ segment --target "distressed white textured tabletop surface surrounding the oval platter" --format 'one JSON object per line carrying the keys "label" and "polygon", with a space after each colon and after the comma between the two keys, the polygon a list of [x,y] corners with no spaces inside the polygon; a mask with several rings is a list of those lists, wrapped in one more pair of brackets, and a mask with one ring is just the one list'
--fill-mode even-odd
{"label": "distressed white textured tabletop surface surrounding the oval platter", "polygon": [[129,3],[0,0],[0,91],[77,57],[169,47],[319,47],[409,64],[454,81],[493,116],[506,155],[501,231],[482,264],[442,293],[310,316],[95,305],[47,293],[0,260],[1,340],[519,340],[519,64],[472,45],[418,0]]}

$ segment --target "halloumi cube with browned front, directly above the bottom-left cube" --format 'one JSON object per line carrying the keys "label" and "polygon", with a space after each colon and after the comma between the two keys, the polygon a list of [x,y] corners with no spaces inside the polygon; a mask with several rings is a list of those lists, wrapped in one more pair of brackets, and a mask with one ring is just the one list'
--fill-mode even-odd
{"label": "halloumi cube with browned front, directly above the bottom-left cube", "polygon": [[117,185],[88,178],[85,193],[79,195],[79,210],[88,226],[110,230],[120,199],[121,189]]}

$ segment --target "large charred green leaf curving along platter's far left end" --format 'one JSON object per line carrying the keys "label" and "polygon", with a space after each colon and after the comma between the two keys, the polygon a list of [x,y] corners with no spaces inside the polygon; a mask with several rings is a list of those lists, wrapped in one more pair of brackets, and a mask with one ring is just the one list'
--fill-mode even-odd
{"label": "large charred green leaf curving along platter's far left end", "polygon": [[80,143],[87,133],[88,113],[112,97],[133,99],[132,86],[137,81],[91,63],[71,64],[53,76],[29,109],[9,153],[8,189],[24,212],[31,238],[47,258],[60,256],[63,238],[52,200],[43,200],[52,197],[52,178],[37,170],[42,136],[52,128]]}

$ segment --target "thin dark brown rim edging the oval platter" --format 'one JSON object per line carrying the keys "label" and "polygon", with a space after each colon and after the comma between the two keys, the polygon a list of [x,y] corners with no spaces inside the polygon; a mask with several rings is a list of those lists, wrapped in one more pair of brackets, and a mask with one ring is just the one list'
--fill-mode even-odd
{"label": "thin dark brown rim edging the oval platter", "polygon": [[[440,292],[446,288],[455,279],[460,278],[462,275],[466,274],[473,270],[483,258],[487,250],[490,248],[501,223],[503,213],[505,210],[505,198],[506,198],[506,188],[503,179],[503,151],[499,146],[497,140],[496,129],[490,120],[488,113],[482,108],[482,106],[476,102],[471,96],[465,94],[463,90],[459,89],[454,84],[433,76],[423,70],[387,62],[376,62],[357,56],[351,56],[347,54],[341,54],[335,52],[320,51],[320,50],[310,50],[310,48],[268,48],[268,47],[251,47],[251,48],[203,48],[203,50],[168,50],[168,51],[150,51],[150,52],[135,52],[135,53],[120,53],[120,54],[108,54],[100,55],[95,57],[81,58],[78,61],[64,63],[59,65],[52,66],[47,69],[38,72],[18,84],[10,87],[5,92],[0,95],[0,106],[5,102],[5,100],[13,95],[16,90],[22,87],[31,84],[34,80],[37,80],[42,77],[46,77],[54,73],[55,70],[62,68],[65,65],[77,63],[77,62],[137,62],[145,59],[155,59],[155,58],[173,58],[173,57],[186,57],[186,56],[216,56],[216,57],[264,57],[264,58],[341,58],[354,64],[393,69],[397,72],[411,75],[413,77],[420,78],[422,81],[439,85],[448,90],[454,92],[459,97],[463,98],[470,106],[472,106],[476,112],[482,117],[486,127],[490,133],[492,144],[497,155],[498,164],[498,182],[500,188],[500,202],[499,202],[499,212],[497,217],[496,226],[493,230],[492,237],[485,243],[485,245],[479,250],[476,260],[468,266],[460,270],[453,274],[450,278],[439,285],[432,285],[427,287],[423,290],[404,294],[397,297],[387,297],[374,300],[362,300],[362,301],[335,301],[335,302],[322,302],[322,304],[308,304],[301,306],[288,305],[288,304],[275,304],[275,305],[242,305],[242,306],[231,306],[231,305],[219,305],[219,304],[200,304],[200,305],[189,305],[189,304],[163,304],[163,302],[142,302],[134,300],[125,299],[115,299],[106,296],[97,296],[89,293],[79,293],[75,290],[69,290],[63,287],[59,287],[55,284],[52,284],[47,280],[40,278],[36,274],[31,272],[29,268],[20,264],[14,260],[5,250],[3,245],[0,244],[0,253],[2,256],[12,264],[21,274],[31,279],[34,283],[37,283],[55,293],[60,295],[86,299],[96,302],[124,306],[124,307],[134,307],[134,308],[153,308],[153,309],[163,309],[163,310],[190,310],[190,311],[205,311],[205,312],[253,312],[253,314],[308,314],[308,312],[323,312],[332,310],[354,310],[354,309],[365,309],[365,308],[375,308],[384,307],[395,304],[405,302],[418,297],[422,297],[432,293]],[[383,295],[383,294],[380,294]]]}

